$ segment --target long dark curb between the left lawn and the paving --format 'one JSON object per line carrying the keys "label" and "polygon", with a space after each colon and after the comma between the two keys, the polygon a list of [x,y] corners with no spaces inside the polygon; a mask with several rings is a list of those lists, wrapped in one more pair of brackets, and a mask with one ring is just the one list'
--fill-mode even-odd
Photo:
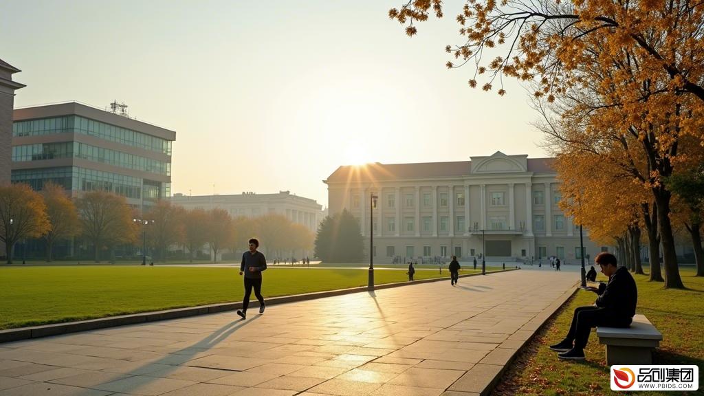
{"label": "long dark curb between the left lawn and the paving", "polygon": [[[515,268],[491,271],[490,273],[501,273],[506,271],[517,271]],[[482,273],[468,273],[461,275],[460,278],[469,276],[481,276]],[[391,287],[401,287],[407,285],[417,285],[419,283],[439,282],[449,280],[448,276],[443,278],[432,278],[423,280],[414,280],[413,282],[398,282],[386,283],[384,285],[375,285],[374,290],[389,289]],[[298,302],[309,299],[319,299],[324,297],[334,297],[339,295],[347,295],[351,293],[367,292],[368,287],[351,287],[349,289],[327,290],[325,292],[313,292],[303,295],[290,295],[281,297],[271,297],[266,299],[267,305],[284,304],[287,302]],[[253,306],[258,307],[256,299]],[[216,314],[223,311],[233,311],[240,309],[242,302],[225,302],[221,304],[200,305],[198,307],[187,307],[177,309],[167,309],[165,311],[142,312],[139,314],[109,316],[107,318],[90,319],[87,321],[76,321],[66,323],[54,323],[50,325],[32,326],[23,328],[11,328],[8,330],[0,330],[0,343],[19,340],[28,340],[31,338],[49,337],[51,335],[61,335],[67,333],[76,333],[78,331],[96,330],[99,328],[108,328],[115,326],[125,326],[137,323],[147,323],[153,321],[164,321],[168,319],[183,318],[185,316],[196,316],[205,314]]]}

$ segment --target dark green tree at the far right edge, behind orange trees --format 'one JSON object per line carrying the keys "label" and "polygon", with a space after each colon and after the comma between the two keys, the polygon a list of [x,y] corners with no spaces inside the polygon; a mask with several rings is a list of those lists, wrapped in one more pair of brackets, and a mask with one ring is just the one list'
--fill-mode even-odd
{"label": "dark green tree at the far right edge, behind orange trees", "polygon": [[697,276],[704,276],[704,250],[702,249],[701,226],[704,213],[704,163],[682,173],[672,175],[667,180],[677,198],[682,202],[684,226],[692,238]]}

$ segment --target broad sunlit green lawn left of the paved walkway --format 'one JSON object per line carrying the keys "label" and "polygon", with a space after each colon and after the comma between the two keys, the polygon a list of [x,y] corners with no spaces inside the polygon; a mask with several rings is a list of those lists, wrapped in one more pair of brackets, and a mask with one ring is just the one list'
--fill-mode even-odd
{"label": "broad sunlit green lawn left of the paved walkway", "polygon": [[[416,280],[439,276],[436,271],[415,273]],[[449,273],[442,276],[449,278]],[[405,271],[375,271],[377,285],[405,280]],[[366,270],[270,268],[262,292],[275,297],[365,285]],[[6,267],[0,268],[0,329],[236,302],[243,289],[239,268]]]}

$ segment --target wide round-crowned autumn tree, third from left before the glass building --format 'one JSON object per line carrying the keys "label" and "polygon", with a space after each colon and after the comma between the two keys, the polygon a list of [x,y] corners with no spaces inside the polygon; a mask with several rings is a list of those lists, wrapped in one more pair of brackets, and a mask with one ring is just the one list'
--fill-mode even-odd
{"label": "wide round-crowned autumn tree, third from left before the glass building", "polygon": [[139,228],[132,221],[132,209],[125,197],[106,191],[85,192],[77,199],[76,207],[82,233],[93,245],[96,263],[101,250],[137,241]]}

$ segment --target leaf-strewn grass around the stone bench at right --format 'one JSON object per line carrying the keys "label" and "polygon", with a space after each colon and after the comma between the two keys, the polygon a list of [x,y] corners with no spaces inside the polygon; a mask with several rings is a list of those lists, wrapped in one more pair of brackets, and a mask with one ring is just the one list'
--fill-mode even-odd
{"label": "leaf-strewn grass around the stone bench at right", "polygon": [[[653,364],[697,364],[704,369],[704,278],[692,268],[680,270],[688,290],[665,290],[662,283],[648,282],[636,275],[638,307],[660,330],[663,340]],[[601,276],[601,274],[600,274]],[[601,279],[606,280],[601,276]],[[589,336],[586,361],[560,361],[548,345],[562,340],[570,327],[574,308],[591,305],[596,295],[579,290],[558,316],[546,323],[527,348],[517,357],[493,395],[619,395],[610,390],[610,367],[606,366],[604,346],[596,333]],[[700,373],[701,376],[701,373]],[[629,395],[701,395],[698,392],[627,392]]]}

